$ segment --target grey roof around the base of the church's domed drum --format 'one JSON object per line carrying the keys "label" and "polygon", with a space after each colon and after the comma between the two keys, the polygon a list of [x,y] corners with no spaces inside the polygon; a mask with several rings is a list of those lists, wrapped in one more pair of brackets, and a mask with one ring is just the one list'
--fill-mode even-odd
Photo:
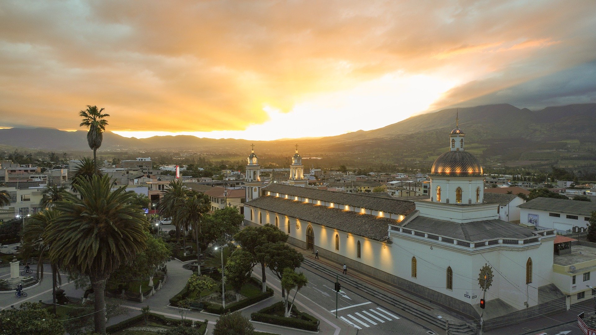
{"label": "grey roof around the base of the church's domed drum", "polygon": [[417,216],[403,228],[424,231],[458,240],[482,241],[494,238],[528,238],[537,236],[532,229],[501,220],[483,220],[459,224],[457,222]]}

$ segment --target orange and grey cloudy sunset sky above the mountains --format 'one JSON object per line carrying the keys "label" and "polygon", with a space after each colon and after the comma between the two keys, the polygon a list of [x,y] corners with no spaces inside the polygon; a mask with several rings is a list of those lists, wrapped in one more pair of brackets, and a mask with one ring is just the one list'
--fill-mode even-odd
{"label": "orange and grey cloudy sunset sky above the mountains", "polygon": [[2,1],[0,128],[277,139],[596,102],[596,1]]}

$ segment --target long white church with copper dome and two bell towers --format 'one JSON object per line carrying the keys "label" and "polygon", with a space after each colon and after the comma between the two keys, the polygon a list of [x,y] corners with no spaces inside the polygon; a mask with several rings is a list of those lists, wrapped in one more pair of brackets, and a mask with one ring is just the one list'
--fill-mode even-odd
{"label": "long white church with copper dome and two bell towers", "polygon": [[565,296],[550,279],[554,230],[499,220],[464,139],[460,128],[451,131],[449,151],[429,175],[430,196],[421,201],[308,187],[298,150],[287,184],[263,185],[253,150],[245,223],[275,225],[294,246],[476,320],[483,296],[491,306],[484,320],[507,315],[519,322],[553,304],[564,310]]}

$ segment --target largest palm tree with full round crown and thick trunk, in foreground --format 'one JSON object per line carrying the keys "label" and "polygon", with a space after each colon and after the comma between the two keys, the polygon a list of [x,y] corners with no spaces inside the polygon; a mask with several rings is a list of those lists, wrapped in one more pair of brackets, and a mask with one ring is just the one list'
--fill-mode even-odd
{"label": "largest palm tree with full round crown and thick trunk, in foreground", "polygon": [[125,188],[111,191],[108,176],[94,175],[75,185],[75,194],[66,194],[55,203],[61,215],[50,222],[43,235],[50,244],[51,262],[61,268],[89,276],[95,293],[95,332],[105,334],[105,282],[110,274],[146,245],[149,222],[139,206],[130,204]]}

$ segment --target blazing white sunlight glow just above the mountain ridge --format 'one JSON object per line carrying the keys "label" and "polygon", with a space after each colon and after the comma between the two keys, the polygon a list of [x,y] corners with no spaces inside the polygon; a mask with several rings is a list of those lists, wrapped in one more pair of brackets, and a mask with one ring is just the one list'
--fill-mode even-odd
{"label": "blazing white sunlight glow just above the mountain ridge", "polygon": [[243,131],[113,132],[135,138],[192,135],[253,141],[335,136],[382,128],[423,113],[445,92],[460,83],[438,75],[404,75],[396,72],[344,91],[313,95],[297,103],[288,113],[265,104],[263,110],[268,114],[268,120],[258,125],[251,124]]}

